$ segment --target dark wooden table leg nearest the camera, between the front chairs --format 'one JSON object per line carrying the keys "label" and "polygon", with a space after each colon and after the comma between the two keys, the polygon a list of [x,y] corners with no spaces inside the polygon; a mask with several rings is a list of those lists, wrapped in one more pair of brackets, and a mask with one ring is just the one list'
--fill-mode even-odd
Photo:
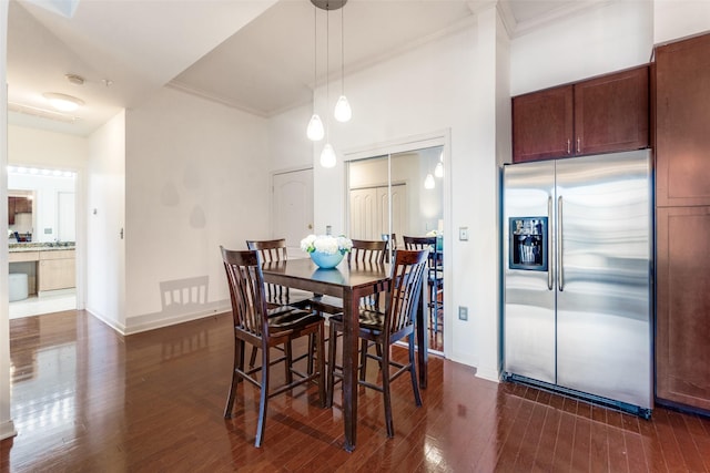
{"label": "dark wooden table leg nearest the camera, between the front chairs", "polygon": [[359,332],[359,297],[352,291],[343,295],[343,417],[345,450],[355,450],[357,435],[357,360]]}

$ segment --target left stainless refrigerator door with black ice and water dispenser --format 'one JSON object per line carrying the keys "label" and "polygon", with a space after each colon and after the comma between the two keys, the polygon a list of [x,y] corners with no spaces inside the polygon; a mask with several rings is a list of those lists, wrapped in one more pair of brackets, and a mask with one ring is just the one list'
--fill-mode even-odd
{"label": "left stainless refrigerator door with black ice and water dispenser", "polygon": [[[505,371],[555,383],[555,290],[552,275],[555,162],[504,167],[504,350]],[[547,270],[526,269],[511,260],[515,222],[547,218]],[[538,220],[538,218],[535,218]],[[511,225],[511,222],[514,224]],[[523,243],[523,241],[520,241]],[[539,265],[537,267],[539,269]]]}

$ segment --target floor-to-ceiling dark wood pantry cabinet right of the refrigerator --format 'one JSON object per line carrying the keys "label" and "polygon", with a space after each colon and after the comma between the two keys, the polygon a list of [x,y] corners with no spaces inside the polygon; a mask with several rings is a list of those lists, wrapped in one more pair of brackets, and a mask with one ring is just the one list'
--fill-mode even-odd
{"label": "floor-to-ceiling dark wood pantry cabinet right of the refrigerator", "polygon": [[656,49],[656,397],[710,413],[710,34]]}

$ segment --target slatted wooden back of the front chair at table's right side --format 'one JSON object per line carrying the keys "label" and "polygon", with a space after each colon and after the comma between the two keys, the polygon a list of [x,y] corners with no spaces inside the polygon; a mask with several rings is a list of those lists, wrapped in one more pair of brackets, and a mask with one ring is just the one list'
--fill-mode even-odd
{"label": "slatted wooden back of the front chair at table's right side", "polygon": [[427,249],[395,253],[385,307],[385,330],[390,335],[414,326],[428,253]]}

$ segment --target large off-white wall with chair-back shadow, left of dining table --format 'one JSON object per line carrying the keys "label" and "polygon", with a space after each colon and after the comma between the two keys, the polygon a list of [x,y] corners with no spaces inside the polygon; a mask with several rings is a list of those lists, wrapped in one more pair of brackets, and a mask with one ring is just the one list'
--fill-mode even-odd
{"label": "large off-white wall with chair-back shadow, left of dining table", "polygon": [[[220,245],[268,234],[267,131],[264,119],[169,88],[128,112],[125,332],[229,308]],[[166,288],[193,294],[165,304]]]}

